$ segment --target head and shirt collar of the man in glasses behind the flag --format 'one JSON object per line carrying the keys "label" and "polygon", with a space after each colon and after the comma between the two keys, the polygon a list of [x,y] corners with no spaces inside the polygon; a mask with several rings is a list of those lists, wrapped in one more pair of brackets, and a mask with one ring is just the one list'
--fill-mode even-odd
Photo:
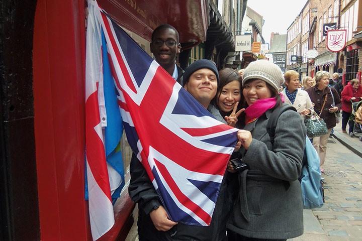
{"label": "head and shirt collar of the man in glasses behind the flag", "polygon": [[169,24],[160,25],[153,31],[151,41],[151,52],[157,63],[181,83],[184,71],[175,64],[176,55],[181,50],[177,30]]}

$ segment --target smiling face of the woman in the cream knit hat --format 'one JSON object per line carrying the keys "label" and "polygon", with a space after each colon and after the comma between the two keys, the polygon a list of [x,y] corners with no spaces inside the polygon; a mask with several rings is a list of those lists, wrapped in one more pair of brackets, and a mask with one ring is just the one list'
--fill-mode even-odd
{"label": "smiling face of the woman in the cream knit hat", "polygon": [[272,97],[272,91],[261,79],[254,79],[244,84],[243,95],[248,105],[252,105],[258,99],[266,99]]}

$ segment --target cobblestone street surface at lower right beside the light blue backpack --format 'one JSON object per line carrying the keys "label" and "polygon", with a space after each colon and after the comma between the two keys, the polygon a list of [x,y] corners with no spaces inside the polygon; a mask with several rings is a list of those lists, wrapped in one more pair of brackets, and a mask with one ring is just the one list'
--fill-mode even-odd
{"label": "cobblestone street surface at lower right beside the light blue backpack", "polygon": [[362,158],[329,138],[324,166],[325,204],[305,210],[305,232],[293,241],[362,240]]}

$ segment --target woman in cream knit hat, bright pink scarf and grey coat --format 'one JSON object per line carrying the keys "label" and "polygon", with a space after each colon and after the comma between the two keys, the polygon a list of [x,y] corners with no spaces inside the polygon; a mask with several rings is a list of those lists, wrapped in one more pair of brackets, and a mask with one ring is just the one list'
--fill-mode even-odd
{"label": "woman in cream knit hat, bright pink scarf and grey coat", "polygon": [[306,130],[293,110],[278,119],[274,141],[266,130],[270,114],[283,103],[281,69],[266,60],[250,63],[242,80],[245,127],[238,132],[241,161],[238,197],[227,227],[229,240],[286,240],[303,233],[303,202],[298,180]]}

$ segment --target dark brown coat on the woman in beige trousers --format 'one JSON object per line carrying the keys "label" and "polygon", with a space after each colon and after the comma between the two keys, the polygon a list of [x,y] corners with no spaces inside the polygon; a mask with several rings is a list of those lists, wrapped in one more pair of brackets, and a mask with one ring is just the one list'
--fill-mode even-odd
{"label": "dark brown coat on the woman in beige trousers", "polygon": [[[308,92],[309,97],[314,103],[314,110],[316,111],[316,113],[320,114],[320,112],[322,111],[320,117],[326,123],[327,128],[331,129],[335,127],[336,126],[335,114],[329,113],[328,109],[333,106],[333,98],[330,94],[331,93],[330,91],[332,91],[334,97],[334,105],[338,107],[338,110],[341,109],[342,103],[337,91],[334,88],[329,88],[329,87],[326,87],[323,91],[321,91],[318,89],[316,85],[307,89],[306,91]],[[321,110],[326,95],[327,95],[327,101],[324,104],[323,110]]]}

